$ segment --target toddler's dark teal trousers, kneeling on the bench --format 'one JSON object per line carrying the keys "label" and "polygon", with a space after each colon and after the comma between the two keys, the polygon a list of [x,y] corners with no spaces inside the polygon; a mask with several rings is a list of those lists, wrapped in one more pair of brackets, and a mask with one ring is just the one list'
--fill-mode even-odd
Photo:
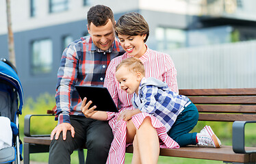
{"label": "toddler's dark teal trousers, kneeling on the bench", "polygon": [[196,134],[189,133],[199,120],[199,111],[191,103],[178,115],[175,124],[172,125],[168,135],[179,143],[179,146],[196,145]]}

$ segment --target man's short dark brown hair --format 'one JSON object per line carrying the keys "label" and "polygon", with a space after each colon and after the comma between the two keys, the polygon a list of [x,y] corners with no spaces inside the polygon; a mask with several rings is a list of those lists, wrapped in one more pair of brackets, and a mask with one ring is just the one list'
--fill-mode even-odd
{"label": "man's short dark brown hair", "polygon": [[90,29],[90,23],[93,23],[96,27],[106,25],[110,19],[114,26],[114,14],[112,10],[105,5],[94,5],[87,13],[88,28]]}

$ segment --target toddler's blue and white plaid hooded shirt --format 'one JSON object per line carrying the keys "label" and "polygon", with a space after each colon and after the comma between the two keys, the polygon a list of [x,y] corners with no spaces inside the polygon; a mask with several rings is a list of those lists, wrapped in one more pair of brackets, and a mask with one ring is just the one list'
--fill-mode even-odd
{"label": "toddler's blue and white plaid hooded shirt", "polygon": [[133,94],[133,107],[154,115],[169,131],[184,107],[190,104],[189,98],[172,92],[166,83],[153,77],[143,78],[138,95]]}

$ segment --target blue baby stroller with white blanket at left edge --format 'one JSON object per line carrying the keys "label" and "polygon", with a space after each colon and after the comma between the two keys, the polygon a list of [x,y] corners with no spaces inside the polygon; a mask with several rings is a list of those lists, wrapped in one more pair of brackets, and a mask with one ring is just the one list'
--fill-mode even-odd
{"label": "blue baby stroller with white blanket at left edge", "polygon": [[16,68],[6,59],[0,61],[0,163],[20,163],[22,143],[18,115],[23,107],[23,89]]}

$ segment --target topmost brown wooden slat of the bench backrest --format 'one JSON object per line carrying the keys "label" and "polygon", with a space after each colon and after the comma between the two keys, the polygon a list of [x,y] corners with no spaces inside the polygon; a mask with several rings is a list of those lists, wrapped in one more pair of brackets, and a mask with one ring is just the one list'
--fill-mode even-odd
{"label": "topmost brown wooden slat of the bench backrest", "polygon": [[231,88],[231,89],[192,89],[179,90],[179,94],[185,96],[239,96],[239,95],[255,95],[256,88]]}

